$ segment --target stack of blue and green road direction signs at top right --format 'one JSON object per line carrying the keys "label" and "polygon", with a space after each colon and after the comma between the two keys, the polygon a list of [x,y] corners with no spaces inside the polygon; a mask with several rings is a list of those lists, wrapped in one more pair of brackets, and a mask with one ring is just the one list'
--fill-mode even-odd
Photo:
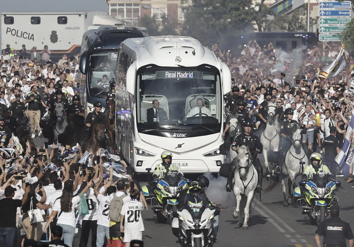
{"label": "stack of blue and green road direction signs at top right", "polygon": [[350,22],[350,1],[319,2],[319,40],[341,41],[341,33]]}

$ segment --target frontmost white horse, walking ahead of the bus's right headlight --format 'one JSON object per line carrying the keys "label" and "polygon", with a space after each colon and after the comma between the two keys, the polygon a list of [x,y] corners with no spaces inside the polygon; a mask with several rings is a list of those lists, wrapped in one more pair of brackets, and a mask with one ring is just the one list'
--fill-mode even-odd
{"label": "frontmost white horse, walking ahead of the bus's right headlight", "polygon": [[251,212],[251,205],[255,189],[257,187],[258,174],[256,168],[253,166],[250,158],[249,148],[245,145],[237,147],[238,156],[232,161],[236,165],[236,172],[234,174],[234,193],[236,195],[236,209],[233,217],[239,217],[238,226],[242,221],[244,215],[244,223],[242,229],[248,229],[249,215]]}

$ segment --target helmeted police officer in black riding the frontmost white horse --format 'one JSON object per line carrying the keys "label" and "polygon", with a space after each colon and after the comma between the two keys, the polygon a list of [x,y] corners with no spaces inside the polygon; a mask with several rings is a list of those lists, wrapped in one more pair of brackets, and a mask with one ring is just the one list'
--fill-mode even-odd
{"label": "helmeted police officer in black riding the frontmost white horse", "polygon": [[[236,151],[237,147],[242,146],[242,145],[246,145],[249,148],[252,158],[254,157],[254,159],[252,161],[253,165],[255,166],[255,168],[258,172],[258,184],[257,184],[256,192],[262,193],[263,192],[263,190],[262,190],[263,168],[262,168],[261,162],[257,158],[257,154],[262,152],[263,145],[261,143],[261,140],[259,140],[259,138],[256,135],[252,134],[252,128],[253,128],[252,121],[247,120],[244,123],[245,133],[236,137],[234,143],[232,144],[232,149],[234,151]],[[233,179],[234,173],[235,173],[235,167],[233,165],[230,165],[229,174],[228,174],[228,178],[227,178],[227,184],[226,184],[226,191],[227,192],[232,191],[232,179]]]}

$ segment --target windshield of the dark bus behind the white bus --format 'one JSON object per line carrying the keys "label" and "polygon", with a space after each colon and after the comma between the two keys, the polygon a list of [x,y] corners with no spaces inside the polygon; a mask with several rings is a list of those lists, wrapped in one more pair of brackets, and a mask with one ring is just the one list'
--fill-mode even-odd
{"label": "windshield of the dark bus behind the white bus", "polygon": [[109,80],[115,78],[117,54],[102,52],[90,56],[88,89],[91,96],[106,97],[109,90]]}

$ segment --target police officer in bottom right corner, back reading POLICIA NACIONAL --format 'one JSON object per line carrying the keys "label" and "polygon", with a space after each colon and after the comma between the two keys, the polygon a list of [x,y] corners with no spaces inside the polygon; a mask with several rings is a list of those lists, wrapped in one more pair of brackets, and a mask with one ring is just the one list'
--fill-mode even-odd
{"label": "police officer in bottom right corner, back reading POLICIA NACIONAL", "polygon": [[339,218],[339,206],[332,205],[330,208],[331,218],[322,222],[317,230],[315,235],[315,242],[317,247],[321,247],[321,236],[326,237],[324,239],[324,244],[326,247],[346,247],[346,239],[349,241],[349,247],[354,246],[353,232],[350,228],[350,225],[342,221]]}

